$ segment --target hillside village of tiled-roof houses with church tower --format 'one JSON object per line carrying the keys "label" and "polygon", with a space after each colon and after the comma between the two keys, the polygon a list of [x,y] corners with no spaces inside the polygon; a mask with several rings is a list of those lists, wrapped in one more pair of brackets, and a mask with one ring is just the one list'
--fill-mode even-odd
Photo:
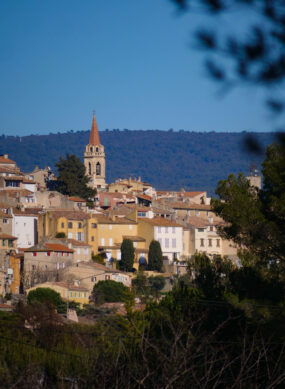
{"label": "hillside village of tiled-roof houses with church tower", "polygon": [[[40,286],[86,304],[99,281],[130,287],[138,269],[148,271],[153,240],[160,244],[160,274],[169,285],[197,252],[237,263],[237,248],[219,236],[223,220],[211,210],[205,191],[158,191],[140,177],[106,183],[108,164],[95,114],[84,165],[97,191],[92,207],[48,190],[56,180],[49,168],[23,173],[8,155],[0,156],[0,295],[19,296]],[[124,240],[135,250],[131,272],[118,265]]]}

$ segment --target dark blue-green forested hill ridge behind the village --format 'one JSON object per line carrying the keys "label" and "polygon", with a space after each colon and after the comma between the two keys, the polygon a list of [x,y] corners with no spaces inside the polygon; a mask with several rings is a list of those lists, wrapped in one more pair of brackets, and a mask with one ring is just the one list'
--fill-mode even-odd
{"label": "dark blue-green forested hill ridge behind the village", "polygon": [[[217,181],[230,173],[248,172],[264,155],[253,156],[243,148],[247,133],[179,131],[105,130],[100,132],[105,146],[107,182],[115,178],[141,176],[157,189],[201,189],[214,192]],[[255,133],[263,145],[273,134]],[[35,165],[50,166],[66,153],[83,159],[89,131],[49,135],[0,136],[0,153],[9,154],[23,171]]]}

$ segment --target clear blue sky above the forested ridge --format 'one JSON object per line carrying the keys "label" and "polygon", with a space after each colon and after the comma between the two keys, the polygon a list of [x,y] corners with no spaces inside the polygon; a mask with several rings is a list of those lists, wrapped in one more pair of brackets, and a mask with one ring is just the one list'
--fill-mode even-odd
{"label": "clear blue sky above the forested ridge", "polygon": [[[195,23],[203,22],[196,16]],[[256,91],[226,96],[169,0],[0,1],[0,134],[269,131]]]}

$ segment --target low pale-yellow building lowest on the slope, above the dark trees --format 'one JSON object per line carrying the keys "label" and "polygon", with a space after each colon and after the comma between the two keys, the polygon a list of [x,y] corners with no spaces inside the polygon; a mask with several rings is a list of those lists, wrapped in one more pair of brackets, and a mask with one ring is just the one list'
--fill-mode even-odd
{"label": "low pale-yellow building lowest on the slope, above the dark trees", "polygon": [[67,282],[44,282],[33,286],[27,290],[27,294],[37,288],[50,288],[60,294],[61,298],[65,301],[74,301],[79,303],[80,306],[89,303],[90,293],[88,289],[83,286],[72,285]]}

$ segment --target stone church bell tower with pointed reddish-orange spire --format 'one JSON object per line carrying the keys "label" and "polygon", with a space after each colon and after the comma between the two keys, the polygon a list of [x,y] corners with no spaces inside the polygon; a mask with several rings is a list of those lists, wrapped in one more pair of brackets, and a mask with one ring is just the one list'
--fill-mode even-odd
{"label": "stone church bell tower with pointed reddish-orange spire", "polygon": [[90,177],[89,185],[94,189],[104,189],[106,187],[105,152],[104,146],[100,143],[95,113],[93,114],[89,143],[85,147],[84,165],[86,175]]}

